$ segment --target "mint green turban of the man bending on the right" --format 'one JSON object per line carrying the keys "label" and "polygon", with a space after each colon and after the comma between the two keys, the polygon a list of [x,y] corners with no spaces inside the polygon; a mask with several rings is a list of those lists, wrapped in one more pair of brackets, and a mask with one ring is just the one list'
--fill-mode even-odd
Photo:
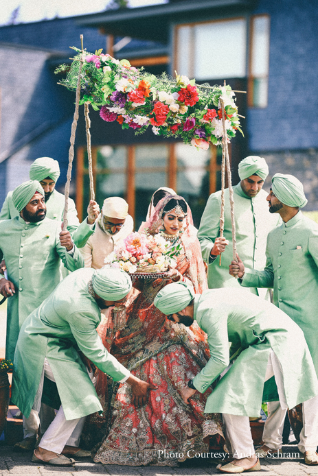
{"label": "mint green turban of the man bending on the right", "polygon": [[185,283],[171,283],[159,291],[155,297],[154,305],[168,316],[168,314],[185,309],[194,296],[194,289]]}

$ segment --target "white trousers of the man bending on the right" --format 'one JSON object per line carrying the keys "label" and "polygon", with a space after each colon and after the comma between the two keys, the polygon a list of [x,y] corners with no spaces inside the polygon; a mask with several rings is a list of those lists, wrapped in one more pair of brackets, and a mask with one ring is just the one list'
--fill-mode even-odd
{"label": "white trousers of the man bending on the right", "polygon": [[[265,381],[275,375],[278,395],[282,401],[282,407],[286,409],[286,398],[284,394],[284,385],[282,379],[282,367],[277,359],[273,349],[269,354],[269,361],[266,369]],[[286,411],[286,410],[285,410]],[[232,455],[240,459],[242,457],[251,457],[254,455],[254,444],[249,426],[248,416],[223,414],[226,436],[229,440]]]}

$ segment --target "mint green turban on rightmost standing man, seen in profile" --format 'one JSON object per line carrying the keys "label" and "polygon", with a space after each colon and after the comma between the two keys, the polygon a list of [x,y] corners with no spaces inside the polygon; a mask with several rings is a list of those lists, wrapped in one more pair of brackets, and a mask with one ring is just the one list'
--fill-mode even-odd
{"label": "mint green turban on rightmost standing man, seen in profile", "polygon": [[293,175],[275,174],[271,179],[274,195],[287,206],[299,206],[302,209],[308,202],[302,182]]}

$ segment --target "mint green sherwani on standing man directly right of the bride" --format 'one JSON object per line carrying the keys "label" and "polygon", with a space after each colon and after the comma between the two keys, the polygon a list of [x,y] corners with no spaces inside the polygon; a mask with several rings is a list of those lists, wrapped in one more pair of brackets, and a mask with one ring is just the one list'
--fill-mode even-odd
{"label": "mint green sherwani on standing man directly right of the bride", "polygon": [[[240,183],[233,187],[236,223],[236,244],[240,258],[247,267],[255,270],[264,268],[266,257],[266,238],[269,232],[280,223],[280,217],[269,213],[266,196],[268,193],[260,190],[254,198],[249,198],[242,191]],[[225,189],[225,226],[224,237],[229,245],[222,253],[222,264],[219,257],[213,260],[210,252],[214,241],[220,236],[220,207],[221,192],[212,193],[207,200],[205,211],[198,230],[198,240],[201,244],[203,260],[208,264],[207,283],[209,288],[239,287],[236,278],[229,275],[229,265],[233,259],[231,213],[229,208],[229,189]],[[251,289],[253,294],[265,297],[266,290]]]}

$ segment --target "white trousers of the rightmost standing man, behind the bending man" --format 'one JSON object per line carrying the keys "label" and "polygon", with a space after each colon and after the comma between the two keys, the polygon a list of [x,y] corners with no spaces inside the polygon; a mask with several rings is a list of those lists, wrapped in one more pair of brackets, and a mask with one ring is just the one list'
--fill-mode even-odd
{"label": "white trousers of the rightmost standing man, behind the bending man", "polygon": [[[269,402],[269,418],[264,426],[263,441],[271,449],[282,448],[282,433],[286,409],[280,402]],[[303,427],[300,432],[299,451],[316,451],[318,445],[318,396],[310,398],[302,404]]]}

